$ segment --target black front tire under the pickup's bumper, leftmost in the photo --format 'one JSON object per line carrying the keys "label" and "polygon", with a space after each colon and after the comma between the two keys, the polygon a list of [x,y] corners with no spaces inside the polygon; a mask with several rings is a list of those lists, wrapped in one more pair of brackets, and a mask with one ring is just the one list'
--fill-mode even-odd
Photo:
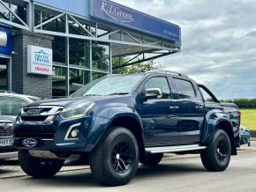
{"label": "black front tire under the pickup's bumper, leftmost in the photo", "polygon": [[34,178],[52,177],[64,164],[63,160],[34,158],[28,151],[19,151],[18,159],[21,169]]}

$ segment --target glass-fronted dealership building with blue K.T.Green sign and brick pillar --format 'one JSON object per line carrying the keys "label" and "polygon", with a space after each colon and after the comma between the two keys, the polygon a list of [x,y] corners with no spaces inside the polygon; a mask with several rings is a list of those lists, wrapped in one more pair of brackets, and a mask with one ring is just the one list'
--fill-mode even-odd
{"label": "glass-fronted dealership building with blue K.T.Green sign and brick pillar", "polygon": [[180,47],[179,26],[109,0],[0,0],[0,90],[67,97]]}

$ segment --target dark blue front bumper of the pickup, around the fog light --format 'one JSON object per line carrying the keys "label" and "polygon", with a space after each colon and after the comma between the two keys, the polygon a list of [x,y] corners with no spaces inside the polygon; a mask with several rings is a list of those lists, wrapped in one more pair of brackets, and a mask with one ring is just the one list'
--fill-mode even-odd
{"label": "dark blue front bumper of the pickup, around the fog light", "polygon": [[[56,115],[53,123],[21,122],[14,126],[14,146],[19,150],[29,151],[54,151],[54,152],[76,152],[84,151],[87,142],[87,131],[91,122],[90,117],[64,120]],[[77,139],[66,139],[69,129],[79,124],[79,137]],[[36,145],[27,146],[24,140],[34,139]]]}

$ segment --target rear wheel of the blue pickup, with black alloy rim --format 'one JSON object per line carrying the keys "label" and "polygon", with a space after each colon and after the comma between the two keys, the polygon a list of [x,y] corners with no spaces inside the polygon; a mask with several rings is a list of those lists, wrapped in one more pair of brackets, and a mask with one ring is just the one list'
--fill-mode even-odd
{"label": "rear wheel of the blue pickup, with black alloy rim", "polygon": [[200,152],[203,165],[208,171],[222,172],[230,164],[230,137],[222,129],[215,131],[211,143],[206,150]]}

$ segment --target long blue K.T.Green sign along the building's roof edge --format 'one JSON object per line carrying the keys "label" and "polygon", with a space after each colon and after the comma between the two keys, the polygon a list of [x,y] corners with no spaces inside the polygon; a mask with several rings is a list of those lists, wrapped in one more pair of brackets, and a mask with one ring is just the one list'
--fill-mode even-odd
{"label": "long blue K.T.Green sign along the building's roof edge", "polygon": [[93,18],[181,44],[180,27],[162,19],[154,18],[109,0],[91,0],[90,10],[90,15]]}

